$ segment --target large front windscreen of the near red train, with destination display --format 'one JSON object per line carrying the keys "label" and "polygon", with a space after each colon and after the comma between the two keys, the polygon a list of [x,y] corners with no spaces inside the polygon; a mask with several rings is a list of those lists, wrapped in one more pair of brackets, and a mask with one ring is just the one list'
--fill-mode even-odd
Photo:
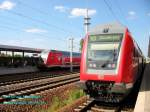
{"label": "large front windscreen of the near red train, with destination display", "polygon": [[122,34],[91,35],[88,41],[87,67],[115,69]]}

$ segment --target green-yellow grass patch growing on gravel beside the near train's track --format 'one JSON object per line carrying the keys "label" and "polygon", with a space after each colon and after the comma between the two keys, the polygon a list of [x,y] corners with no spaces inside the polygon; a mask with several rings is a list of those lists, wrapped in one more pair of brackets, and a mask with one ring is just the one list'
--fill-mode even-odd
{"label": "green-yellow grass patch growing on gravel beside the near train's track", "polygon": [[58,109],[66,106],[67,104],[73,103],[75,100],[84,96],[85,93],[81,89],[70,90],[66,99],[61,99],[58,96],[53,97],[52,105],[48,108],[48,110],[41,110],[39,112],[55,112]]}

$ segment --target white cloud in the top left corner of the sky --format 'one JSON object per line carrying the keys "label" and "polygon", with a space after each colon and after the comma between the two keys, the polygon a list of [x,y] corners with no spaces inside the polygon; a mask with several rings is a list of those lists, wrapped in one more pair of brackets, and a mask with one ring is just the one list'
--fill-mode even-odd
{"label": "white cloud in the top left corner of the sky", "polygon": [[1,10],[11,10],[12,8],[14,8],[15,4],[13,2],[10,1],[3,1],[0,4],[0,9]]}

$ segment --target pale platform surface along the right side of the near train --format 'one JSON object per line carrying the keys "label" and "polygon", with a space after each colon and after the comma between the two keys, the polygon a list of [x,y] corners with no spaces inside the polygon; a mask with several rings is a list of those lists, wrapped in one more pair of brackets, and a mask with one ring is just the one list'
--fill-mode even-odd
{"label": "pale platform surface along the right side of the near train", "polygon": [[145,67],[134,112],[150,112],[150,64]]}

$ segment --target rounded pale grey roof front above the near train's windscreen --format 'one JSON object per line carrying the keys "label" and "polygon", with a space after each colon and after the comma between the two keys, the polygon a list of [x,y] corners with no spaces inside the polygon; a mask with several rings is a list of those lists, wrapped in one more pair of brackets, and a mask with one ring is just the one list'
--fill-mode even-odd
{"label": "rounded pale grey roof front above the near train's windscreen", "polygon": [[90,35],[96,35],[96,34],[111,34],[111,33],[124,33],[126,31],[127,27],[124,25],[114,22],[110,24],[103,24],[103,25],[97,25],[90,29],[89,34]]}

